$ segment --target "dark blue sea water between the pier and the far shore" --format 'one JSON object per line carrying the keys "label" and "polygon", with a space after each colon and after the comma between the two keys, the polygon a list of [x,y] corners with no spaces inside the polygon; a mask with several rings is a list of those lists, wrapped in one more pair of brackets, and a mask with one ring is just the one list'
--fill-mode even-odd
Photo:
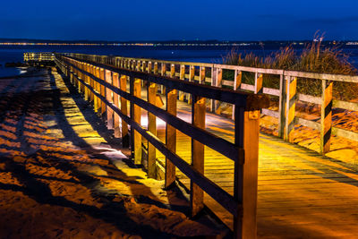
{"label": "dark blue sea water between the pier and the far shore", "polygon": [[[120,55],[136,58],[152,58],[169,61],[185,61],[197,63],[222,63],[223,57],[233,47],[139,47],[139,46],[0,46],[0,77],[23,73],[20,68],[5,67],[5,63],[23,61],[25,52],[59,52],[83,53],[93,55]],[[279,47],[236,47],[237,52],[244,54],[253,52],[256,55],[269,55]],[[358,47],[342,47],[343,52],[350,55],[349,61],[358,68]],[[301,49],[295,49],[300,51]]]}

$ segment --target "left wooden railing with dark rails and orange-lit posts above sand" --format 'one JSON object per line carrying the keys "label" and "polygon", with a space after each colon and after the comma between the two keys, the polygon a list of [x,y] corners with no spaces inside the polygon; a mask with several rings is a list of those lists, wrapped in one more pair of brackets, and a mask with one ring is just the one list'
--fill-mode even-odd
{"label": "left wooden railing with dark rails and orange-lit posts above sand", "polygon": [[[206,192],[234,216],[235,237],[256,237],[259,119],[260,108],[268,107],[268,97],[200,84],[205,81],[203,68],[200,68],[200,82],[193,82],[196,79],[193,70],[190,73],[192,81],[182,81],[175,78],[173,66],[170,76],[166,76],[165,63],[160,68],[162,73],[159,73],[158,62],[152,64],[120,61],[115,57],[66,54],[55,55],[55,64],[84,94],[84,98],[93,102],[95,111],[101,115],[106,113],[108,128],[122,137],[124,146],[131,144],[135,164],[142,164],[142,138],[148,141],[149,177],[156,176],[158,149],[166,157],[166,187],[175,182],[175,167],[191,179],[192,216],[203,209]],[[183,74],[182,70],[182,79]],[[126,90],[128,81],[129,92]],[[146,85],[147,100],[141,98],[142,85]],[[166,109],[156,106],[158,86],[166,95]],[[192,124],[176,116],[178,91],[190,96]],[[214,104],[226,102],[234,105],[234,143],[205,130],[205,98],[211,99]],[[130,112],[127,102],[130,103]],[[141,126],[141,109],[148,112],[148,129]],[[156,117],[166,122],[165,142],[156,135]],[[175,153],[176,130],[192,139],[191,164]],[[234,195],[204,174],[205,145],[234,161]]]}

